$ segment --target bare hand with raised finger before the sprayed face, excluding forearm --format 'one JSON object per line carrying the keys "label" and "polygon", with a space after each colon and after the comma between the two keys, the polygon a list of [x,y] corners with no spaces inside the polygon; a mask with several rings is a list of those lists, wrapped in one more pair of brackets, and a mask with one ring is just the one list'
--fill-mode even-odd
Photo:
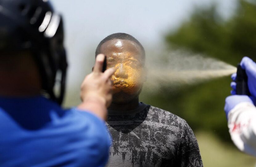
{"label": "bare hand with raised finger before the sprayed face, excluding forearm", "polygon": [[104,58],[103,54],[97,55],[93,72],[85,77],[81,85],[81,99],[82,101],[97,99],[109,107],[112,102],[110,77],[114,73],[114,69],[109,68],[104,73],[102,72]]}

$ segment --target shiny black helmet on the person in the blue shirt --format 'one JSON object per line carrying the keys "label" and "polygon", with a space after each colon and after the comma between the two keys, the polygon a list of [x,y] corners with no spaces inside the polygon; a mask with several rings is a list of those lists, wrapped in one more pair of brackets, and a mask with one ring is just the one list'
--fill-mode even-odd
{"label": "shiny black helmet on the person in the blue shirt", "polygon": [[[59,104],[67,69],[63,39],[62,17],[48,0],[0,0],[0,52],[31,51],[43,90]],[[60,79],[58,96],[54,93],[56,76]]]}

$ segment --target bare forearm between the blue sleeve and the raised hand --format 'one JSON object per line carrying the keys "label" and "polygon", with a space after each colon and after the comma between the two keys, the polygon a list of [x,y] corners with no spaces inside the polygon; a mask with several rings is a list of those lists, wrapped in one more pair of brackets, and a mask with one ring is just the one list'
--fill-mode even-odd
{"label": "bare forearm between the blue sleeve and the raised hand", "polygon": [[90,112],[104,121],[107,118],[107,109],[105,106],[105,101],[103,99],[99,99],[99,98],[85,99],[77,108],[83,111]]}

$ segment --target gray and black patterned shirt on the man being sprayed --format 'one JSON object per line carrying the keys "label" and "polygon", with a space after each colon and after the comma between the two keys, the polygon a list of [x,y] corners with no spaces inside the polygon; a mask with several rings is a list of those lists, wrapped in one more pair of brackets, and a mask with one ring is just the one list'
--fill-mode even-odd
{"label": "gray and black patterned shirt on the man being sprayed", "polygon": [[112,135],[108,167],[202,167],[188,123],[160,108],[140,103],[132,111],[109,111]]}

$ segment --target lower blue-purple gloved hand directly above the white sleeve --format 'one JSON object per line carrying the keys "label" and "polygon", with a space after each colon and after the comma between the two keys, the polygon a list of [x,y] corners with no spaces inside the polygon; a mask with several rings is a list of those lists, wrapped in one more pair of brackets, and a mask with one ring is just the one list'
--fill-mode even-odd
{"label": "lower blue-purple gloved hand directly above the white sleeve", "polygon": [[237,104],[242,102],[248,102],[248,103],[254,104],[254,102],[256,102],[256,99],[253,96],[247,96],[247,95],[231,95],[226,98],[224,110],[225,110],[227,119],[228,119],[229,111],[232,110]]}

